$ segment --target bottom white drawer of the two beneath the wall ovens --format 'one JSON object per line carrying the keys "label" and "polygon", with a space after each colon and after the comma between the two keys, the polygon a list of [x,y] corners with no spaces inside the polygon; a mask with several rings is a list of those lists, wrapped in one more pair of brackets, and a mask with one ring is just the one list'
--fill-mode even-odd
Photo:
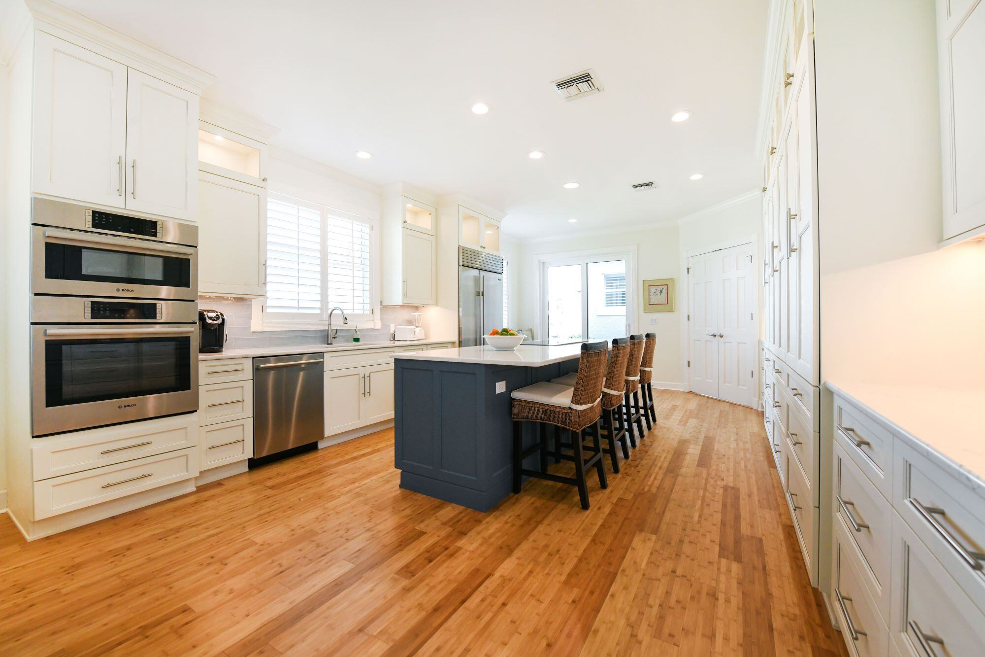
{"label": "bottom white drawer of the two beneath the wall ovens", "polygon": [[126,497],[198,475],[198,448],[168,452],[34,482],[34,520]]}

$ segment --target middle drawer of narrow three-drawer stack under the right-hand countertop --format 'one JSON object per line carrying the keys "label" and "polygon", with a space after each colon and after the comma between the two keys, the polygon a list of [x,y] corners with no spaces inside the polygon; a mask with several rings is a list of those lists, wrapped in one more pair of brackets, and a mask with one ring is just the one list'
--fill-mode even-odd
{"label": "middle drawer of narrow three-drawer stack under the right-hand countertop", "polygon": [[835,524],[859,551],[859,573],[879,607],[889,618],[889,561],[892,549],[892,511],[869,478],[862,474],[845,450],[834,445]]}

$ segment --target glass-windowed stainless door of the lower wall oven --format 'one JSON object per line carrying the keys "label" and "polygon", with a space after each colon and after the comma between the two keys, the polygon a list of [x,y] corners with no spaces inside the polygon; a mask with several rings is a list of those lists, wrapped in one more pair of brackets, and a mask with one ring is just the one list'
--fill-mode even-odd
{"label": "glass-windowed stainless door of the lower wall oven", "polygon": [[198,407],[194,326],[33,327],[33,434]]}

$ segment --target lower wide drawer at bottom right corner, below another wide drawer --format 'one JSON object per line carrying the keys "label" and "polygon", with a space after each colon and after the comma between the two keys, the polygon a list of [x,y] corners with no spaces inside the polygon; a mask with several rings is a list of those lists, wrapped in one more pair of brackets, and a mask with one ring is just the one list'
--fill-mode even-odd
{"label": "lower wide drawer at bottom right corner, below another wide drawer", "polygon": [[981,655],[985,615],[907,524],[892,515],[890,631],[917,655]]}

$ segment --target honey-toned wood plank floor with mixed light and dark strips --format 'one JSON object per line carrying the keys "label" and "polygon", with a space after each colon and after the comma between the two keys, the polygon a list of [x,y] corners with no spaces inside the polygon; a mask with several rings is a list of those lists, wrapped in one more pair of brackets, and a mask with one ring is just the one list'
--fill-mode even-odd
{"label": "honey-toned wood plank floor with mixed light and dark strips", "polygon": [[401,490],[387,430],[32,544],[2,515],[0,654],[847,654],[761,415],[656,397],[587,512]]}

